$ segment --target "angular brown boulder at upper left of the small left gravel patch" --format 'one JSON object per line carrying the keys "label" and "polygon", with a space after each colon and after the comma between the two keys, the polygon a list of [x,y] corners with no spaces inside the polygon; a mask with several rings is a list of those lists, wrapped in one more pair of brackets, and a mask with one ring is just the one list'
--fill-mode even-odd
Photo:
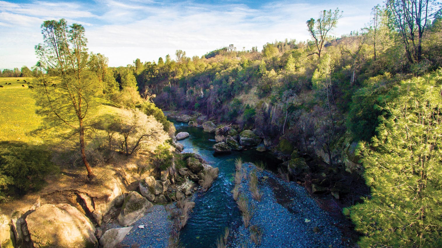
{"label": "angular brown boulder at upper left of the small left gravel patch", "polygon": [[122,226],[132,225],[135,221],[143,217],[146,210],[152,206],[152,203],[146,198],[135,191],[130,191],[124,199],[120,215],[118,216],[118,222],[120,222]]}

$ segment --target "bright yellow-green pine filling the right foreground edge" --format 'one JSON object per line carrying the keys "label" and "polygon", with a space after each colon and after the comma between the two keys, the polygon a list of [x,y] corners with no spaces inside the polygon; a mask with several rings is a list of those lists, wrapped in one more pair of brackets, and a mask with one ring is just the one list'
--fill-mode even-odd
{"label": "bright yellow-green pine filling the right foreground edge", "polygon": [[361,247],[439,247],[442,235],[442,70],[403,81],[378,136],[360,144],[371,198],[347,208]]}

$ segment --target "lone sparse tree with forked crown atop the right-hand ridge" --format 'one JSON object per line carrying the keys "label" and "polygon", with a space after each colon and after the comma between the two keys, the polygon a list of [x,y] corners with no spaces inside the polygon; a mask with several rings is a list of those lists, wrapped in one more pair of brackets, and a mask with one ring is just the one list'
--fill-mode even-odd
{"label": "lone sparse tree with forked crown atop the right-hand ridge", "polygon": [[324,43],[327,41],[327,34],[333,28],[338,25],[338,20],[342,17],[342,11],[339,11],[339,8],[336,8],[335,11],[322,11],[319,13],[319,19],[315,21],[315,19],[309,19],[307,23],[307,28],[314,39],[315,46],[317,52],[310,53],[307,56],[312,54],[317,54],[318,57],[321,57],[322,49],[324,48]]}

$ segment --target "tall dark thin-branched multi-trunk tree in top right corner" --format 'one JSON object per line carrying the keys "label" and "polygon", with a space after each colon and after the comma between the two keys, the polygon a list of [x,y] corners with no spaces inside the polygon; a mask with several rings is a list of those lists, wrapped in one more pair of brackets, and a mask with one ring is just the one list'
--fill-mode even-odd
{"label": "tall dark thin-branched multi-trunk tree in top right corner", "polygon": [[388,0],[386,4],[401,34],[408,61],[420,62],[423,33],[430,24],[428,21],[440,14],[441,3],[431,0]]}

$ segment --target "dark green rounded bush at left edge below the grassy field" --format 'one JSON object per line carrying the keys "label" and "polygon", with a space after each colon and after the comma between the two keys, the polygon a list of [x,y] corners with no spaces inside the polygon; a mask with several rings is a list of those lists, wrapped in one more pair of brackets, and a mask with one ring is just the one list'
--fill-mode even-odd
{"label": "dark green rounded bush at left edge below the grassy field", "polygon": [[8,194],[39,190],[44,177],[58,172],[44,147],[3,142],[0,144],[0,200]]}

